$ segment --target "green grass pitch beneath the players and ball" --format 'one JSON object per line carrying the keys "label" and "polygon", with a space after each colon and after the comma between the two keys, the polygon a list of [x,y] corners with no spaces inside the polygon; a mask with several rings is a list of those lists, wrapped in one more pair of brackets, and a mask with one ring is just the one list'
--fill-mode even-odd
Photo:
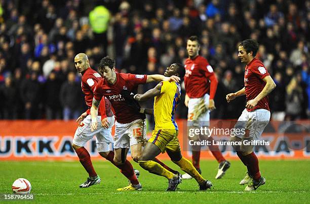
{"label": "green grass pitch beneath the players and ball", "polygon": [[[171,161],[164,161],[178,170]],[[117,188],[128,184],[119,170],[107,161],[94,161],[94,167],[102,181],[99,185],[79,188],[87,174],[79,161],[1,161],[0,194],[12,194],[15,179],[28,179],[32,185],[31,201],[14,203],[310,203],[310,160],[260,161],[260,171],[266,184],[255,192],[244,192],[239,182],[246,171],[241,161],[231,161],[226,175],[214,177],[217,163],[201,161],[202,175],[213,183],[213,188],[199,191],[195,180],[183,180],[176,192],[166,192],[166,178],[139,169],[142,191],[118,192]],[[0,200],[3,202],[4,200]]]}

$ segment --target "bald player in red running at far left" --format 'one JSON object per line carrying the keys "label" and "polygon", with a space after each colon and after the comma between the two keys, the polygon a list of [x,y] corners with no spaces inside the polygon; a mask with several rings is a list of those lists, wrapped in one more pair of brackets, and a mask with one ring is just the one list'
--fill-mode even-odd
{"label": "bald player in red running at far left", "polygon": [[89,109],[83,113],[76,122],[79,123],[79,127],[76,129],[72,147],[78,154],[80,162],[89,174],[89,178],[85,183],[80,185],[80,188],[87,188],[94,184],[99,184],[101,179],[96,174],[93,167],[90,155],[84,148],[85,144],[96,136],[97,151],[99,154],[113,163],[115,166],[121,169],[121,173],[126,176],[130,182],[139,183],[135,174],[133,174],[132,164],[126,160],[123,164],[117,164],[114,162],[114,152],[109,150],[109,144],[112,143],[111,130],[114,125],[114,115],[111,111],[111,104],[109,100],[104,98],[101,100],[99,107],[99,116],[97,117],[99,122],[97,131],[92,132],[90,128],[91,116],[90,108],[94,97],[94,90],[102,77],[92,70],[89,65],[89,60],[86,54],[79,53],[74,57],[74,64],[76,70],[82,74],[82,91],[85,94],[85,101]]}

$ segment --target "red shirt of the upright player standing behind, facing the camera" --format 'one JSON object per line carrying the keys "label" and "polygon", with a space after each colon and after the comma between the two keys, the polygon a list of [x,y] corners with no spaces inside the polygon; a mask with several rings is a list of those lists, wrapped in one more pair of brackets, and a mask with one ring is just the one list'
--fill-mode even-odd
{"label": "red shirt of the upright player standing behind, facing the camera", "polygon": [[[206,58],[200,55],[198,55],[194,59],[187,58],[185,61],[185,71],[185,90],[186,94],[190,98],[200,98],[206,93],[209,93],[209,78],[211,76],[214,76],[214,72],[212,66],[209,64]],[[210,93],[210,99],[214,98],[215,91],[214,93]]]}

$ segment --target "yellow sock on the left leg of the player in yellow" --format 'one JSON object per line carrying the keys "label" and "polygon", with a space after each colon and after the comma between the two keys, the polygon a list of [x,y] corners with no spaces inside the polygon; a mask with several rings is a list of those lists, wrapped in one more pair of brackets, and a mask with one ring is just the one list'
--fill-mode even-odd
{"label": "yellow sock on the left leg of the player in yellow", "polygon": [[159,176],[166,177],[167,179],[172,179],[175,175],[169,172],[161,164],[155,161],[138,161],[139,165],[151,174],[156,174]]}

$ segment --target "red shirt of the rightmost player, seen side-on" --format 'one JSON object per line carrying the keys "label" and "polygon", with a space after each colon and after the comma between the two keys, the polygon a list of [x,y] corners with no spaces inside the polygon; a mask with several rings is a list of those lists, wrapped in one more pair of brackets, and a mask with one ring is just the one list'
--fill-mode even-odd
{"label": "red shirt of the rightmost player, seen side-on", "polygon": [[[262,79],[269,76],[269,73],[264,64],[257,58],[254,58],[245,67],[244,86],[247,101],[254,99],[264,88],[266,82]],[[266,109],[270,111],[268,104],[268,96],[261,99],[253,109],[247,111],[254,111],[256,109]]]}

